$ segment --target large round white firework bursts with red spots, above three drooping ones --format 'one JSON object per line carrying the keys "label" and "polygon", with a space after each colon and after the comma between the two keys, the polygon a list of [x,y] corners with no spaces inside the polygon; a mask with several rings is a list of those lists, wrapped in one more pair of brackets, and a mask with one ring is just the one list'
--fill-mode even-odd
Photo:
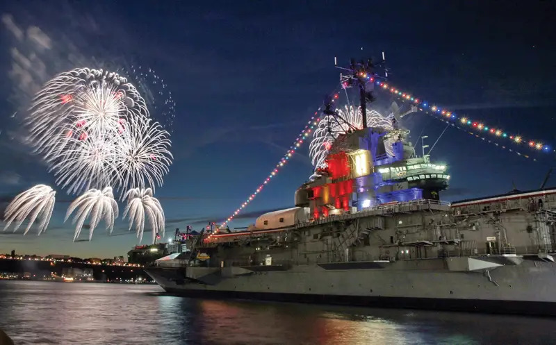
{"label": "large round white firework bursts with red spots, above three drooping ones", "polygon": [[69,194],[106,185],[120,196],[154,188],[172,163],[170,134],[152,122],[136,88],[113,72],[59,74],[35,96],[25,125],[29,144]]}

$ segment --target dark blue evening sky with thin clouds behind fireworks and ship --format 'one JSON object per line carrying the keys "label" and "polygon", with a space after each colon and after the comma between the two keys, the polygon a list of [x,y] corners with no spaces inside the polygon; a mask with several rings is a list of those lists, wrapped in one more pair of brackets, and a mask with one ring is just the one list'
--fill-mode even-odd
{"label": "dark blue evening sky with thin clouds behind fireworks and ship", "polygon": [[[0,13],[2,210],[28,187],[53,185],[47,167],[18,140],[18,113],[36,87],[75,67],[150,67],[171,90],[175,160],[155,195],[165,210],[166,237],[175,228],[199,230],[226,219],[254,192],[338,85],[334,56],[347,65],[351,57],[379,58],[385,51],[389,83],[556,148],[551,1],[3,1]],[[402,125],[412,142],[422,133],[431,146],[445,128],[422,113]],[[452,176],[441,198],[501,194],[512,183],[537,189],[555,165],[553,153],[496,142],[532,156],[448,128],[432,151]],[[305,145],[231,227],[293,206],[311,171]],[[548,185],[556,185],[556,176]],[[92,242],[72,242],[74,230],[63,217],[74,196],[56,190],[47,233],[0,232],[0,253],[111,257],[138,244],[121,219],[111,237],[101,224]],[[143,243],[149,239],[145,233]]]}

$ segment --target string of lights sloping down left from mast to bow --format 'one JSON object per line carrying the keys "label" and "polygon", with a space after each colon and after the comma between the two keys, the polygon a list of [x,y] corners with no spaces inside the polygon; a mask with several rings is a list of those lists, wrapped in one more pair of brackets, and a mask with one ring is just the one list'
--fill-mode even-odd
{"label": "string of lights sloping down left from mast to bow", "polygon": [[[338,97],[339,97],[339,94],[337,93],[337,91],[338,90],[336,89],[332,93],[332,94],[334,94],[334,96],[332,98],[333,102],[336,101],[336,99],[338,99]],[[302,146],[302,144],[304,144],[304,142],[306,142],[307,137],[309,137],[309,135],[313,132],[313,129],[317,126],[318,121],[320,121],[320,118],[318,117],[318,114],[319,114],[320,110],[322,110],[322,106],[318,107],[316,112],[311,116],[311,119],[304,126],[301,133],[299,135],[297,135],[297,138],[295,138],[295,141],[293,142],[293,144],[290,146],[288,151],[282,156],[282,158],[279,160],[277,165],[275,165],[275,167],[272,169],[272,171],[270,171],[270,174],[268,174],[268,176],[265,178],[265,180],[263,180],[263,183],[261,183],[261,185],[259,185],[259,187],[256,188],[256,190],[240,205],[240,207],[234,213],[232,213],[226,219],[226,221],[222,222],[222,225],[221,225],[222,227],[226,226],[226,224],[228,224],[232,219],[234,219],[234,217],[236,217],[241,211],[243,211],[247,207],[247,205],[249,205],[251,203],[251,201],[253,201],[253,199],[255,199],[257,195],[259,195],[259,193],[261,193],[261,191],[263,190],[265,185],[270,183],[272,178],[274,178],[279,173],[279,171],[281,171],[281,168],[284,167],[284,165],[288,164],[292,155],[295,154],[297,149],[299,149]],[[213,234],[218,233],[218,232],[219,232],[219,229],[217,228]],[[213,234],[208,235],[207,239],[210,239]]]}

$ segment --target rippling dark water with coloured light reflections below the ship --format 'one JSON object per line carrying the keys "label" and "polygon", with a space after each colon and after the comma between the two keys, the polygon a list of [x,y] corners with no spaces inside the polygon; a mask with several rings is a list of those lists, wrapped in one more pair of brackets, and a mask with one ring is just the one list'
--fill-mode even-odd
{"label": "rippling dark water with coloured light reflections below the ship", "polygon": [[156,285],[0,281],[16,344],[556,344],[556,319],[167,296]]}

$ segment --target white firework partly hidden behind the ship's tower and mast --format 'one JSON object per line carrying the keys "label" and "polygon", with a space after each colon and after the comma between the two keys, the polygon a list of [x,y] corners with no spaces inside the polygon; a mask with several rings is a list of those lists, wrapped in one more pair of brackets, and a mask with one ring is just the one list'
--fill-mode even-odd
{"label": "white firework partly hidden behind the ship's tower and mast", "polygon": [[[382,127],[391,130],[393,118],[393,114],[385,117],[376,110],[367,109],[368,127]],[[338,135],[361,128],[363,128],[363,119],[359,107],[344,106],[344,108],[338,108],[337,115],[322,117],[313,133],[311,144],[309,144],[309,155],[311,155],[313,167],[315,169],[326,167],[325,158]]]}

